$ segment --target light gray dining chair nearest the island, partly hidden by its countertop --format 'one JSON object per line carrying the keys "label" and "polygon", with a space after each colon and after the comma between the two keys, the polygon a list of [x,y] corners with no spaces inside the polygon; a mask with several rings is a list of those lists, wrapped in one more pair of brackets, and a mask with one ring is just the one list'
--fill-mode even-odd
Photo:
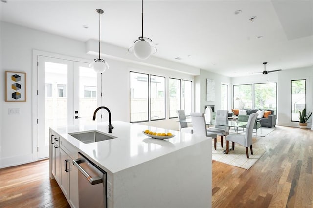
{"label": "light gray dining chair nearest the island, partly hidden by its countertop", "polygon": [[204,113],[190,113],[190,116],[192,127],[194,128],[194,134],[199,136],[212,137],[214,139],[214,149],[216,149],[217,135],[207,131]]}

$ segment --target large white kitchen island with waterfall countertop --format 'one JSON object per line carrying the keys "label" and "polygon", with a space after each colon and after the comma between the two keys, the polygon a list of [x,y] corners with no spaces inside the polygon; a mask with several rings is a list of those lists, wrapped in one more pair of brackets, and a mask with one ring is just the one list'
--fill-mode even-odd
{"label": "large white kitchen island with waterfall countertop", "polygon": [[[50,128],[50,177],[56,178],[72,207],[78,207],[81,200],[78,199],[78,171],[72,166],[73,160],[79,157],[78,152],[107,173],[105,192],[109,208],[211,207],[210,138],[121,121],[113,121],[114,129],[107,133],[107,124]],[[142,133],[146,129],[171,132],[175,137],[153,139]],[[70,135],[91,130],[114,138],[85,144]],[[58,144],[60,150],[55,148]],[[59,153],[63,151],[67,156],[64,165]],[[53,157],[56,159],[52,160]],[[70,182],[63,187],[64,178]]]}

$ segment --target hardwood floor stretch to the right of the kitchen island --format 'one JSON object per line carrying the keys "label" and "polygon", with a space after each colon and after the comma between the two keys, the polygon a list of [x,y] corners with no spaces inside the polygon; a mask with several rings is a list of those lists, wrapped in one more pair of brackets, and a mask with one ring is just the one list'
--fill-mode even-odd
{"label": "hardwood floor stretch to the right of the kitchen island", "polygon": [[313,131],[276,126],[253,140],[266,153],[249,170],[213,161],[214,208],[313,208]]}

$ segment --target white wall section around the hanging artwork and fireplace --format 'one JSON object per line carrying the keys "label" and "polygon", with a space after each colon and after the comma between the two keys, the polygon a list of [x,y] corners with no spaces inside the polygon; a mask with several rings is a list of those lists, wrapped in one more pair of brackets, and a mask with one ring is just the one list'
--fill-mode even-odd
{"label": "white wall section around the hanging artwork and fireplace", "polygon": [[[215,99],[214,101],[206,101],[206,79],[211,79],[215,81]],[[214,105],[215,111],[221,109],[221,84],[228,84],[228,95],[231,93],[231,79],[230,77],[225,77],[220,74],[209,72],[203,69],[200,69],[200,75],[195,77],[195,85],[197,93],[200,92],[200,98],[197,96],[195,98],[196,112],[204,113],[205,105]],[[199,91],[200,89],[200,91]],[[230,98],[228,99],[228,110],[231,110]]]}

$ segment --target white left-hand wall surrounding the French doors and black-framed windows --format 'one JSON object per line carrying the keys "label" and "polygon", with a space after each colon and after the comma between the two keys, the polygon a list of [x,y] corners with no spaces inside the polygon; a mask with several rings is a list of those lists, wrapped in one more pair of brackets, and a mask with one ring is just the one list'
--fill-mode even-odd
{"label": "white left-hand wall surrounding the French doors and black-framed windows", "polygon": [[[77,57],[78,59],[93,60],[95,56],[87,54],[90,48],[87,48],[86,45],[86,42],[1,22],[0,83],[4,83],[3,75],[5,71],[21,71],[27,74],[26,102],[5,102],[5,89],[3,84],[1,84],[1,167],[14,166],[37,160],[37,147],[34,148],[34,144],[37,144],[37,141],[35,141],[37,138],[32,137],[32,112],[37,111],[37,109],[32,109],[32,82],[37,82],[37,80],[32,80],[32,50],[35,49]],[[101,48],[104,50],[106,47],[102,46]],[[109,48],[111,51],[108,54],[116,54],[115,51],[112,51],[115,50],[112,45]],[[116,48],[117,51],[121,50],[120,47]],[[127,49],[125,50],[127,51]],[[128,54],[127,56],[135,60],[132,54]],[[106,57],[110,56],[107,55]],[[167,64],[173,70],[166,70],[164,69],[162,59],[156,57],[150,57],[149,59],[152,60],[152,63],[145,61],[145,65],[141,65],[138,61],[125,61],[125,57],[123,59],[124,62],[118,60],[116,56],[105,58],[110,64],[110,69],[104,72],[103,76],[104,97],[102,104],[111,110],[112,120],[129,121],[130,70],[192,81],[194,81],[193,74],[199,74],[199,69],[177,62]],[[164,62],[169,63],[169,61],[165,60]],[[158,65],[161,67],[158,67]],[[184,73],[178,72],[179,67],[183,68]],[[8,115],[9,108],[20,108],[20,114]],[[104,117],[106,118],[106,115]],[[171,128],[178,128],[178,123],[173,119],[151,123],[151,125],[156,125],[157,127],[171,126]],[[34,135],[36,135],[36,132]]]}

